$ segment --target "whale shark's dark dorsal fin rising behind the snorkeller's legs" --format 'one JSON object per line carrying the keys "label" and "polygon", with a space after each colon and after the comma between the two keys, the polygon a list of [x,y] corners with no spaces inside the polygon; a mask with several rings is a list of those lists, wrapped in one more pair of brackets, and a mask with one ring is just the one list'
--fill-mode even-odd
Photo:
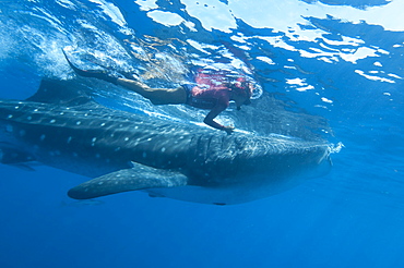
{"label": "whale shark's dark dorsal fin rising behind the snorkeller's legs", "polygon": [[88,89],[76,81],[44,78],[28,101],[78,106],[92,100]]}

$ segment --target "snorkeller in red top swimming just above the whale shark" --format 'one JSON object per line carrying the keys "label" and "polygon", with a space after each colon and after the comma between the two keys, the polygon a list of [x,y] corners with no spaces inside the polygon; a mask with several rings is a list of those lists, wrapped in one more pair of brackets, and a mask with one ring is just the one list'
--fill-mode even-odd
{"label": "snorkeller in red top swimming just above the whale shark", "polygon": [[[212,83],[215,77],[204,72],[200,72],[197,75],[197,84],[185,84],[177,88],[152,88],[134,80],[131,75],[122,74],[124,77],[117,77],[104,70],[81,70],[72,64],[66,53],[64,57],[78,75],[94,77],[122,86],[147,98],[153,105],[188,105],[210,110],[203,122],[216,130],[225,131],[227,134],[231,134],[235,127],[233,125],[222,125],[214,119],[229,107],[230,101],[236,102],[237,110],[240,110],[243,105],[250,105],[254,92],[252,81],[248,81],[240,75],[226,77],[226,81],[221,83]],[[209,85],[205,87],[201,86],[201,84]]]}

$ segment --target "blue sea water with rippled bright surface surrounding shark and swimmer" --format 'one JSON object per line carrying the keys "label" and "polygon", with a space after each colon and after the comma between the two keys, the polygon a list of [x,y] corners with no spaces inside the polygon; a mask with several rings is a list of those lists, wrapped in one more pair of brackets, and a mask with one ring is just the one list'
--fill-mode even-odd
{"label": "blue sea water with rippled bright surface surrounding shark and swimmer", "polygon": [[[1,98],[73,78],[62,48],[154,86],[223,64],[295,114],[278,134],[309,129],[345,147],[326,176],[225,207],[135,192],[76,203],[66,193],[87,178],[1,166],[0,267],[402,267],[402,0],[1,0]],[[175,117],[91,83],[110,106]]]}

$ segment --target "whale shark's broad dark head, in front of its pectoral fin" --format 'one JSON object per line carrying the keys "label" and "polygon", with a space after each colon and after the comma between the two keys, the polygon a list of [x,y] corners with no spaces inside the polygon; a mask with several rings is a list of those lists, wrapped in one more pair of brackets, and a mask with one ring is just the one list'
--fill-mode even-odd
{"label": "whale shark's broad dark head, in front of its pectoral fin", "polygon": [[206,186],[313,178],[331,167],[329,144],[283,135],[201,136],[195,148],[190,172]]}

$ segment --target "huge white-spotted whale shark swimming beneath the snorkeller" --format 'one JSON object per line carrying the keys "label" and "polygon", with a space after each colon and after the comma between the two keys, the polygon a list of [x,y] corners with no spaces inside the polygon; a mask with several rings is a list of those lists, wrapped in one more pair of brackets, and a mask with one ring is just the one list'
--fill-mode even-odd
{"label": "huge white-spotted whale shark swimming beneath the snorkeller", "polygon": [[324,141],[219,131],[100,105],[84,84],[44,78],[26,100],[0,100],[0,162],[39,162],[90,178],[68,195],[129,191],[231,205],[326,174]]}

